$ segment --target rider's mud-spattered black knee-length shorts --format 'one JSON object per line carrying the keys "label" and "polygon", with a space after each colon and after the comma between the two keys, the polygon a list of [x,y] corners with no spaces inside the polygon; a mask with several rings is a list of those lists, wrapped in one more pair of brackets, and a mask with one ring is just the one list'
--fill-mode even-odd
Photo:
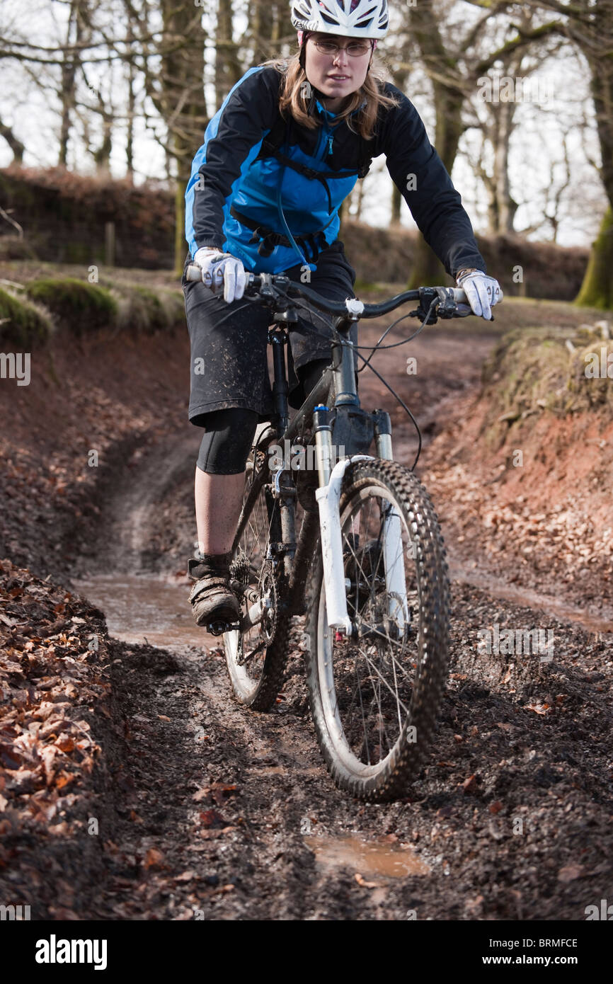
{"label": "rider's mud-spattered black knee-length shorts", "polygon": [[[187,264],[186,264],[187,266]],[[287,277],[300,282],[302,267],[296,264],[285,271]],[[241,406],[255,410],[261,420],[268,420],[274,410],[273,391],[268,369],[268,328],[272,324],[270,308],[242,297],[226,304],[223,294],[214,294],[202,281],[181,281],[185,295],[185,312],[191,343],[191,388],[189,419],[205,426],[202,414],[211,410]],[[317,269],[305,286],[331,300],[355,297],[355,271],[349,265],[343,244],[336,239],[323,250]],[[332,350],[325,338],[331,337],[329,319],[298,314],[299,321],[289,326],[287,378],[289,404],[298,407],[304,400],[296,371],[314,359],[331,359]],[[357,342],[353,325],[351,338]]]}

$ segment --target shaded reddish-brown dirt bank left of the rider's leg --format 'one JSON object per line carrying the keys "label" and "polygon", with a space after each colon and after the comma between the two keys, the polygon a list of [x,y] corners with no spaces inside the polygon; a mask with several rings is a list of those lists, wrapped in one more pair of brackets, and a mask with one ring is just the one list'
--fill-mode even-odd
{"label": "shaded reddish-brown dirt bank left of the rider's leg", "polygon": [[70,578],[78,558],[87,568],[107,496],[147,449],[164,438],[198,446],[188,396],[187,329],[102,330],[34,349],[30,385],[0,385],[0,556],[43,577]]}

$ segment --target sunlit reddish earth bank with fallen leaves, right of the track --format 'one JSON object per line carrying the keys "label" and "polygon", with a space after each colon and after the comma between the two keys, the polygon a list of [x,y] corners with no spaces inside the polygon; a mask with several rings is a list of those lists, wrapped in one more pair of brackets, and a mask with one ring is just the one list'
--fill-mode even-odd
{"label": "sunlit reddish earth bank with fallen leaves, right of the track", "polygon": [[608,352],[613,366],[602,326],[505,336],[484,365],[482,387],[455,402],[427,449],[423,479],[459,573],[474,584],[497,579],[552,595],[612,631]]}

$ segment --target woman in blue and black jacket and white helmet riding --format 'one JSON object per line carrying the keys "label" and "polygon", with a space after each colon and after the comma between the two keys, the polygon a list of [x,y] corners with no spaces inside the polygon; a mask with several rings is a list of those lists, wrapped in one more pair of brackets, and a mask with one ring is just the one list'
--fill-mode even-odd
{"label": "woman in blue and black jacket and white helmet riding", "polygon": [[[355,273],[337,239],[338,207],[372,157],[387,166],[417,225],[472,310],[502,298],[470,220],[414,106],[374,61],[389,30],[387,0],[295,0],[299,54],[250,69],[211,120],[186,192],[186,238],[203,282],[183,280],[191,340],[189,418],[205,428],[196,466],[199,556],[189,561],[199,625],[231,621],[228,586],[245,464],[273,408],[267,309],[241,302],[246,271],[284,272],[336,300]],[[222,292],[221,292],[222,290]],[[330,362],[304,316],[290,333],[292,406]],[[321,333],[321,322],[317,324]]]}

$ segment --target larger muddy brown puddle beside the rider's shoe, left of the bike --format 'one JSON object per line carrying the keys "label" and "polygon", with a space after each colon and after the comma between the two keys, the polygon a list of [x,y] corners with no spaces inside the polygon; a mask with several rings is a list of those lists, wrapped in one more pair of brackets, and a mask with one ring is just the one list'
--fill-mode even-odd
{"label": "larger muddy brown puddle beside the rider's shoe, left of the bike", "polygon": [[171,651],[218,646],[196,625],[188,602],[190,584],[160,575],[115,574],[75,579],[75,590],[101,608],[111,636]]}

